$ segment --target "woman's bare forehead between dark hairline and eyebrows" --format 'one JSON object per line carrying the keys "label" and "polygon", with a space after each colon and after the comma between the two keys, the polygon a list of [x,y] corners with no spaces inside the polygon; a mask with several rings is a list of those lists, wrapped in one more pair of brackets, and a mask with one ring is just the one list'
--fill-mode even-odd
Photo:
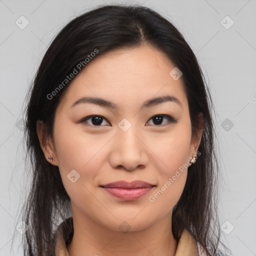
{"label": "woman's bare forehead between dark hairline and eyebrows", "polygon": [[81,96],[93,96],[130,107],[165,94],[184,103],[182,80],[169,75],[174,67],[163,52],[151,46],[113,50],[87,63],[69,84],[61,104],[69,107]]}

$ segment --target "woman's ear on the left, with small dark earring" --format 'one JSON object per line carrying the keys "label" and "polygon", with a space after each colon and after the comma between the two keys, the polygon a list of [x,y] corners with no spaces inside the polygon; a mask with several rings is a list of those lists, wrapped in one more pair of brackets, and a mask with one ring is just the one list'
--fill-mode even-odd
{"label": "woman's ear on the left, with small dark earring", "polygon": [[[58,161],[54,151],[53,143],[51,139],[46,136],[44,123],[41,120],[36,121],[36,133],[46,160],[51,164],[58,166]],[[52,157],[53,161],[48,159],[48,156]]]}

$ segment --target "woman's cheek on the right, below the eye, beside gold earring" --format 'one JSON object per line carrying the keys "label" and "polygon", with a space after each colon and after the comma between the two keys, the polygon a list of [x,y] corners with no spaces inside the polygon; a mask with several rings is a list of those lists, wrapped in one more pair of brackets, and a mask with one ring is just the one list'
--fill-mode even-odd
{"label": "woman's cheek on the right, below the eye, beside gold earring", "polygon": [[158,136],[158,146],[154,146],[157,156],[154,167],[158,170],[158,186],[150,193],[148,200],[155,208],[170,211],[180,198],[187,176],[190,149],[189,123],[177,125],[168,135]]}

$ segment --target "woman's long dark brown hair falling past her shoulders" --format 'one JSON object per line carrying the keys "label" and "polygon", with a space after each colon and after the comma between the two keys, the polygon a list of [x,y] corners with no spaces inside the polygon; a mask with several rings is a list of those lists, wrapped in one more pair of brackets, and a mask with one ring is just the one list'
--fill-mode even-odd
{"label": "woman's long dark brown hair falling past her shoulders", "polygon": [[[223,243],[217,216],[219,166],[214,109],[198,61],[175,26],[154,10],[136,4],[111,4],[97,6],[75,17],[58,32],[27,92],[24,138],[32,180],[22,208],[22,220],[29,226],[22,240],[24,255],[49,255],[56,226],[71,215],[70,198],[59,169],[45,159],[41,150],[36,121],[42,120],[45,134],[53,138],[55,110],[70,84],[68,81],[63,85],[65,77],[79,64],[80,70],[86,68],[85,58],[92,52],[97,53],[89,61],[114,49],[141,45],[161,50],[182,71],[180,79],[188,100],[192,136],[199,130],[199,114],[203,118],[200,156],[188,167],[183,192],[172,211],[173,236],[179,240],[182,231],[187,229],[207,255],[220,253],[217,248]],[[61,82],[63,86],[56,91]],[[51,97],[54,90],[56,93]]]}

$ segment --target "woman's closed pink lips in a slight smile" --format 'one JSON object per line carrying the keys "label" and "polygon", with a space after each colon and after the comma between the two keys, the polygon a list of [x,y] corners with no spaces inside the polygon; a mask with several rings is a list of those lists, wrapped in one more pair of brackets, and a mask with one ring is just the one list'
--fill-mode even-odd
{"label": "woman's closed pink lips in a slight smile", "polygon": [[101,187],[121,200],[132,201],[145,195],[153,186],[140,180],[134,180],[132,182],[120,180],[102,185]]}

